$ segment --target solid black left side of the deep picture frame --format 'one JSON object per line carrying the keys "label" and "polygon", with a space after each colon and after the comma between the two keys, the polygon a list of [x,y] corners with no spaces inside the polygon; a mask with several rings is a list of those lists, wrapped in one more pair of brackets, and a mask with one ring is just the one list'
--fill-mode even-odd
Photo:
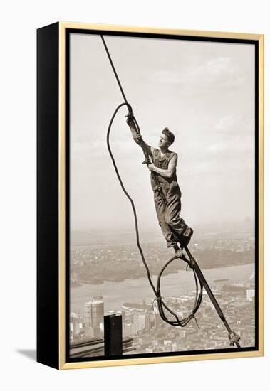
{"label": "solid black left side of the deep picture frame", "polygon": [[37,30],[37,361],[59,369],[59,23]]}

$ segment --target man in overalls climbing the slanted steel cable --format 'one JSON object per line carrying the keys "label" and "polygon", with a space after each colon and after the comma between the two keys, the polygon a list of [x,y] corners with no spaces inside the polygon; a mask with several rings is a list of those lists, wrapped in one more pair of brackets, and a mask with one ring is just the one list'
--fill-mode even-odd
{"label": "man in overalls climbing the slanted steel cable", "polygon": [[158,144],[159,149],[156,149],[147,145],[142,140],[142,136],[137,134],[133,113],[128,114],[127,117],[133,139],[152,159],[152,164],[147,164],[147,167],[151,172],[157,219],[167,241],[167,247],[173,247],[175,254],[181,256],[182,247],[188,245],[193,230],[180,218],[181,191],[176,176],[177,154],[169,150],[169,146],[175,141],[175,136],[168,128],[163,129]]}

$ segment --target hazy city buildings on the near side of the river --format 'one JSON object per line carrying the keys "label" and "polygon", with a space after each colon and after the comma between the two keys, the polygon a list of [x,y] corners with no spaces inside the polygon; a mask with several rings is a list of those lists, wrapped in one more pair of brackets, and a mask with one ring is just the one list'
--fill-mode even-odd
{"label": "hazy city buildings on the near side of the river", "polygon": [[[225,284],[214,290],[224,314],[229,318],[230,323],[237,328],[237,332],[242,338],[242,347],[252,347],[255,343],[255,296],[254,281],[251,280],[239,284]],[[165,299],[171,308],[174,306],[176,314],[180,318],[188,316],[190,313],[193,301],[192,294],[187,293],[181,297],[170,296]],[[103,301],[103,297],[99,297],[98,300]],[[139,354],[229,348],[227,331],[222,326],[222,322],[205,291],[202,306],[196,314],[196,323],[193,321],[185,328],[172,327],[164,323],[157,311],[157,306],[153,306],[151,302],[124,303],[121,309],[108,310],[107,314],[120,315],[123,321],[123,338],[131,337],[131,348],[124,354],[128,354],[130,350],[133,354]],[[105,315],[104,311],[103,315]],[[100,322],[100,333],[94,334],[93,331],[89,332],[89,327],[86,327],[83,316],[71,314],[71,342],[87,341],[89,336],[103,338],[101,323],[103,322]],[[73,350],[72,346],[71,350]],[[100,353],[93,355],[103,355],[103,352],[100,350]],[[91,353],[85,355],[85,357],[91,356]]]}

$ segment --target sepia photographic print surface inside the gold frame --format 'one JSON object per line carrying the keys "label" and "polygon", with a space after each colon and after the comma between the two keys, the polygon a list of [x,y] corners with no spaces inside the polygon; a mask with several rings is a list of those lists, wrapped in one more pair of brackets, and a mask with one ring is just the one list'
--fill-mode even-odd
{"label": "sepia photographic print surface inside the gold frame", "polygon": [[[254,45],[104,39],[132,107],[123,105],[115,115],[109,146],[137,220],[108,151],[108,126],[123,95],[100,35],[71,33],[70,358],[236,348],[207,290],[198,297],[200,279],[182,259],[189,260],[185,246],[239,345],[252,348]],[[142,164],[145,151],[148,164]],[[155,289],[162,268],[178,256],[160,276],[160,294],[147,277],[136,223]],[[109,350],[105,332],[112,336]]]}

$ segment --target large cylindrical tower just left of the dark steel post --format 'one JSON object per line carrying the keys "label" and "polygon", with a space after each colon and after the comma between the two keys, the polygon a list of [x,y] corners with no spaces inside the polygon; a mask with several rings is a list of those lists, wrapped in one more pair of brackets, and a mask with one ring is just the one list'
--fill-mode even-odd
{"label": "large cylindrical tower just left of the dark steel post", "polygon": [[103,323],[104,301],[101,296],[93,297],[84,305],[85,328],[93,328],[93,336],[100,336],[100,324]]}

